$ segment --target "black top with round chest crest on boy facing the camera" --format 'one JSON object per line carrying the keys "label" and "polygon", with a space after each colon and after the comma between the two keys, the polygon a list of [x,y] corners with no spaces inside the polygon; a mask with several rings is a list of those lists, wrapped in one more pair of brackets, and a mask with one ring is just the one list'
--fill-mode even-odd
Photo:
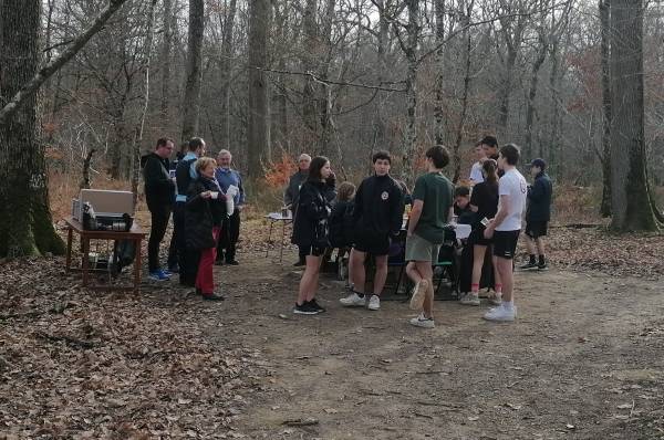
{"label": "black top with round chest crest on boy facing the camera", "polygon": [[390,176],[371,176],[360,184],[355,193],[353,220],[355,233],[396,235],[404,217],[404,195]]}

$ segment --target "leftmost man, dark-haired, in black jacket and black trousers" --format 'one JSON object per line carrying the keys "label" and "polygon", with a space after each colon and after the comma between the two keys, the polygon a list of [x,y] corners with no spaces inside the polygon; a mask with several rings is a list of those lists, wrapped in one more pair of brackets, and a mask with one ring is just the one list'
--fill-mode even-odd
{"label": "leftmost man, dark-haired, in black jacket and black trousers", "polygon": [[168,219],[173,211],[175,182],[168,170],[168,157],[173,153],[173,140],[160,138],[155,150],[142,157],[143,179],[145,182],[145,201],[149,210],[151,231],[147,243],[147,261],[149,279],[166,281],[170,279],[168,271],[159,264],[159,244],[164,240]]}

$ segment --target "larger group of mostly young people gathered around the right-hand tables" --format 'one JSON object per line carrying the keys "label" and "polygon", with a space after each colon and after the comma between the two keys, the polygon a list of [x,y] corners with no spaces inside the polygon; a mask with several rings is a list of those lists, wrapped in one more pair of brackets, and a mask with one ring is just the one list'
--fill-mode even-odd
{"label": "larger group of mostly young people gathered around the right-hand tables", "polygon": [[[293,313],[325,312],[315,293],[321,263],[331,247],[350,248],[350,292],[340,300],[341,304],[380,310],[391,245],[405,232],[405,271],[414,283],[411,307],[421,312],[409,322],[418,327],[434,327],[433,265],[438,262],[450,227],[464,222],[471,226],[466,245],[471,247],[474,255],[470,289],[460,302],[480,304],[479,279],[489,250],[495,277],[490,300],[496,307],[484,318],[513,321],[517,307],[512,272],[521,220],[526,211],[530,260],[522,269],[546,270],[542,238],[550,218],[551,181],[544,172],[544,161],[536,159],[530,164],[535,184],[528,186],[517,169],[520,149],[513,144],[499,148],[494,136],[486,136],[477,149],[481,157],[473,166],[470,187],[455,188],[443,172],[449,164],[449,153],[444,146],[430,147],[425,154],[425,172],[416,179],[412,193],[390,176],[392,158],[387,151],[373,155],[374,172],[356,191],[352,182],[336,188],[328,158],[301,155],[300,169],[284,196],[294,216],[292,241],[299,248],[295,265],[304,265]],[[411,210],[404,219],[406,202]],[[369,255],[374,258],[375,274],[373,290],[365,292]]]}

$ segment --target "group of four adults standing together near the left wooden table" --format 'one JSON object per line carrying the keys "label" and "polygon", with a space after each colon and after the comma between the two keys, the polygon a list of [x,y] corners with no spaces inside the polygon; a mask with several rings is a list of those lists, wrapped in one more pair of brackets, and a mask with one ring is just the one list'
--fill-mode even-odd
{"label": "group of four adults standing together near the left wooden table", "polygon": [[[237,265],[236,247],[245,190],[240,174],[231,168],[232,155],[222,149],[217,160],[205,157],[206,143],[199,137],[186,144],[186,151],[169,161],[174,142],[157,140],[155,150],[143,158],[145,199],[152,217],[148,239],[149,279],[167,281],[179,273],[179,283],[195,287],[205,300],[220,301],[215,290],[214,265]],[[173,237],[168,269],[159,262],[159,245],[170,214]]]}

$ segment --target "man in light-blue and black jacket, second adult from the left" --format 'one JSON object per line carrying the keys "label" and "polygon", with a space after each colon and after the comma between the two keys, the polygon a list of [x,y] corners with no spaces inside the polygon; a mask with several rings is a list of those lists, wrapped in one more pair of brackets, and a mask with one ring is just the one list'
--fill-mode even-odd
{"label": "man in light-blue and black jacket, second adult from the left", "polygon": [[194,137],[187,143],[187,154],[177,163],[175,178],[177,180],[177,196],[173,210],[173,234],[176,240],[177,260],[179,262],[179,283],[186,287],[194,287],[196,272],[200,253],[187,247],[185,228],[185,208],[187,203],[187,191],[191,181],[198,178],[196,172],[196,160],[205,155],[205,140]]}

